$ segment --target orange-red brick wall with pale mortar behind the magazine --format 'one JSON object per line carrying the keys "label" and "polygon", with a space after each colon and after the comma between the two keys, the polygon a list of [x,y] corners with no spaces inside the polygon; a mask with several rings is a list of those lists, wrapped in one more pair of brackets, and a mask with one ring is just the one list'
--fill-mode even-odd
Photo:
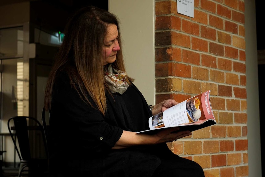
{"label": "orange-red brick wall with pale mortar behind the magazine", "polygon": [[194,0],[194,18],[156,0],[155,15],[156,103],[212,90],[217,120],[169,148],[206,177],[248,176],[244,0]]}

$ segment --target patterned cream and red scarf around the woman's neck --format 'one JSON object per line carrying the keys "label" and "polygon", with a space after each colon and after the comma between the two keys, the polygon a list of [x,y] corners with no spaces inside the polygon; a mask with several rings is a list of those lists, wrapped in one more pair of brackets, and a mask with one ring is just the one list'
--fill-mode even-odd
{"label": "patterned cream and red scarf around the woman's neck", "polygon": [[122,95],[129,87],[126,76],[126,72],[116,70],[112,67],[112,64],[109,64],[104,78],[109,82],[108,86],[112,93],[118,92]]}

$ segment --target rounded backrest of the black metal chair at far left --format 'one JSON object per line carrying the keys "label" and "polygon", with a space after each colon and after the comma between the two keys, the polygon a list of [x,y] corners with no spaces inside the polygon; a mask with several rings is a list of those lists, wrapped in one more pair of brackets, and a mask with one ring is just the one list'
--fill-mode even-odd
{"label": "rounded backrest of the black metal chair at far left", "polygon": [[[11,124],[12,120],[14,125]],[[29,123],[32,123],[32,126],[29,126]],[[15,116],[8,120],[7,126],[20,160],[29,161],[32,158],[29,131],[39,131],[41,133],[46,153],[45,156],[47,157],[48,149],[45,141],[45,135],[43,132],[42,125],[37,119],[29,116]],[[13,129],[15,130],[16,138],[14,138],[13,136],[11,127],[13,127]],[[17,147],[16,139],[18,141],[19,148]]]}

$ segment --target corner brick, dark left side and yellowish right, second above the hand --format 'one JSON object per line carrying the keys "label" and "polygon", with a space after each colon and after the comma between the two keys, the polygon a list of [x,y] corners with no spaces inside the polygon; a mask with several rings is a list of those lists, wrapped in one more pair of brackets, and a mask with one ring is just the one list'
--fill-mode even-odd
{"label": "corner brick, dark left side and yellowish right, second above the hand", "polygon": [[181,79],[178,78],[156,79],[156,92],[181,91],[181,85]]}

